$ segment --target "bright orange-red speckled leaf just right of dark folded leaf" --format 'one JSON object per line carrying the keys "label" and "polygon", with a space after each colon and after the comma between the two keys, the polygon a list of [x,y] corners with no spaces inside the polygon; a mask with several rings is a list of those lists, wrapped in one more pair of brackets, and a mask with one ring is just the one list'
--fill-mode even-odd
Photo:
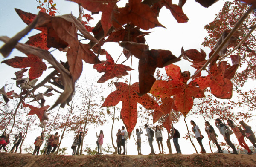
{"label": "bright orange-red speckled leaf just right of dark folded leaf", "polygon": [[180,67],[173,64],[166,66],[165,70],[172,80],[155,81],[150,93],[160,98],[174,96],[174,104],[177,110],[186,116],[193,107],[192,97],[202,98],[204,92],[196,86],[187,85],[190,76],[189,71],[181,73]]}

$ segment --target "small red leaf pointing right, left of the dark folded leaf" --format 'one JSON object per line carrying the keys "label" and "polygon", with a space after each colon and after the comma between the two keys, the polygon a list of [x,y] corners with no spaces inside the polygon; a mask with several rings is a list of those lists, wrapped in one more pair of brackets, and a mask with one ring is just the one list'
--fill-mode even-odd
{"label": "small red leaf pointing right, left of the dark folded leaf", "polygon": [[98,72],[105,72],[101,78],[99,78],[98,83],[104,83],[105,81],[112,79],[114,77],[121,78],[122,76],[128,75],[128,72],[131,71],[131,67],[125,66],[123,64],[115,64],[111,55],[106,52],[106,61],[102,61],[100,64],[94,64],[93,68]]}

